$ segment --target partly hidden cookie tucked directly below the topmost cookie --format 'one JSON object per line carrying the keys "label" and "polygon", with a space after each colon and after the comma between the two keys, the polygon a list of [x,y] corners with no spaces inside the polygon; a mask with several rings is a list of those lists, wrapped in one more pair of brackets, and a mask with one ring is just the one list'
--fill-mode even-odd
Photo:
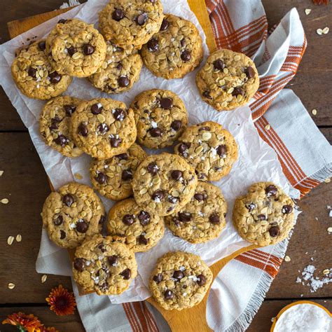
{"label": "partly hidden cookie tucked directly below the topmost cookie", "polygon": [[95,88],[107,93],[122,93],[139,80],[143,62],[132,46],[123,48],[107,41],[106,58],[102,66],[88,77]]}

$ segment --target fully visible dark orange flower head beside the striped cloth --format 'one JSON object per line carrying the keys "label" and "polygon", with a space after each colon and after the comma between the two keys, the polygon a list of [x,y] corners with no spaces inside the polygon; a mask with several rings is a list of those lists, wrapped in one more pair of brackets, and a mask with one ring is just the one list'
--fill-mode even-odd
{"label": "fully visible dark orange flower head beside the striped cloth", "polygon": [[74,293],[67,291],[62,285],[53,288],[46,301],[50,305],[50,310],[58,316],[74,314],[76,307]]}

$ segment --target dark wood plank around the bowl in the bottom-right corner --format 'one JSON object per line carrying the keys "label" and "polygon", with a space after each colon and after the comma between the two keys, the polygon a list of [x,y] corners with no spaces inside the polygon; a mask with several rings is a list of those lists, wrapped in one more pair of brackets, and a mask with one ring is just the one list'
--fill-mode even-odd
{"label": "dark wood plank around the bowl in the bottom-right corner", "polygon": [[[283,307],[289,305],[290,303],[295,302],[292,300],[265,300],[261,309],[258,310],[256,316],[251,322],[247,332],[267,332],[270,331],[272,326],[272,317],[276,317],[278,312],[282,310]],[[323,305],[328,310],[332,310],[332,300],[314,300],[320,305]]]}

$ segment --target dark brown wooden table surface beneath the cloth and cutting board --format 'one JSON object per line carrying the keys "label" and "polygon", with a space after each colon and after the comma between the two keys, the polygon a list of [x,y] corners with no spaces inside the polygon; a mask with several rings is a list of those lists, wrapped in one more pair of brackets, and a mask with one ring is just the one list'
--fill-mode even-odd
{"label": "dark brown wooden table surface beneath the cloth and cutting board", "polygon": [[[3,0],[0,15],[1,42],[9,39],[6,22],[59,8],[63,0]],[[314,6],[311,0],[263,0],[270,26],[275,25],[293,6],[298,8],[307,35],[307,51],[296,78],[290,83],[308,110],[317,109],[313,116],[326,138],[332,141],[331,33],[319,36],[316,29],[332,22],[331,6]],[[312,8],[310,15],[304,9]],[[331,27],[332,28],[332,27]],[[46,174],[35,151],[27,129],[20,120],[4,91],[0,90],[0,199],[8,198],[8,205],[0,204],[0,321],[12,312],[36,314],[47,326],[60,331],[84,331],[78,312],[57,317],[50,312],[45,298],[50,289],[63,284],[71,289],[68,277],[48,275],[41,284],[35,271],[35,261],[41,237],[41,207],[50,192]],[[269,331],[271,317],[284,305],[300,299],[311,299],[332,310],[332,284],[311,293],[310,288],[296,283],[299,270],[308,264],[321,271],[331,268],[332,226],[326,205],[332,205],[332,182],[321,184],[299,202],[303,211],[287,250],[290,262],[282,263],[275,281],[248,331]],[[9,235],[22,235],[22,242],[7,244]],[[311,258],[314,259],[312,262]],[[7,288],[9,282],[15,289]],[[15,331],[4,325],[0,331]]]}

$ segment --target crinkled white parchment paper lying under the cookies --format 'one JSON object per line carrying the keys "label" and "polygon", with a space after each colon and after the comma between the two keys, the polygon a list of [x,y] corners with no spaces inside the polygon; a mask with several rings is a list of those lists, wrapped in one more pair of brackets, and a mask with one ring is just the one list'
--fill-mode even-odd
{"label": "crinkled white parchment paper lying under the cookies", "polygon": [[[79,18],[85,22],[95,24],[97,27],[97,13],[106,5],[107,0],[90,0],[88,3],[78,6],[71,11],[64,13],[61,18]],[[208,55],[208,49],[205,43],[205,35],[197,18],[190,10],[186,0],[162,0],[165,13],[179,15],[187,20],[191,20],[200,30],[204,41],[205,60]],[[48,22],[35,27],[29,32],[22,34],[15,39],[8,41],[0,46],[1,59],[1,85],[11,102],[17,109],[23,123],[29,129],[34,146],[39,153],[41,162],[55,188],[59,188],[69,181],[78,181],[83,184],[90,184],[89,165],[90,156],[83,155],[79,158],[66,158],[57,151],[46,146],[39,136],[39,113],[45,102],[29,99],[22,95],[16,88],[13,78],[11,77],[11,63],[14,59],[15,49],[26,44],[27,39],[37,36],[37,39],[45,37],[50,29],[60,18],[54,18]],[[205,62],[203,60],[203,63]],[[226,216],[226,228],[221,235],[205,244],[190,244],[179,237],[174,237],[169,230],[165,231],[165,236],[158,244],[146,253],[136,254],[139,276],[134,279],[130,289],[120,296],[110,296],[112,303],[123,303],[135,300],[144,300],[149,296],[148,277],[155,265],[158,257],[167,251],[182,250],[198,254],[205,260],[208,265],[212,265],[219,259],[232,254],[234,251],[249,246],[249,242],[242,240],[237,235],[232,223],[232,209],[235,198],[242,195],[247,187],[256,181],[273,181],[275,184],[282,186],[286,193],[293,198],[298,197],[298,192],[293,190],[289,185],[286,177],[282,172],[282,167],[277,160],[277,155],[268,144],[266,144],[258,135],[254,123],[251,119],[249,107],[244,106],[235,111],[217,112],[211,106],[202,102],[195,85],[195,74],[186,75],[182,79],[171,81],[164,80],[153,76],[145,67],[141,71],[138,83],[132,90],[121,95],[107,95],[95,89],[84,78],[74,78],[73,83],[69,86],[64,95],[71,95],[81,99],[92,99],[96,97],[112,97],[119,99],[126,104],[130,104],[134,96],[139,92],[151,88],[169,89],[176,92],[184,100],[189,113],[189,122],[200,123],[206,120],[213,120],[220,123],[228,129],[235,137],[239,146],[239,159],[235,162],[233,169],[227,177],[216,182],[221,188],[228,202],[228,214]],[[167,151],[164,149],[163,151]],[[171,151],[168,149],[168,151]],[[148,151],[149,153],[159,153],[160,151]],[[77,180],[74,174],[79,173],[83,176],[82,180]],[[106,211],[114,204],[111,200],[102,197]],[[41,238],[41,249],[39,258],[36,263],[37,271],[42,273],[51,273],[58,275],[70,275],[69,260],[67,251],[60,249],[50,242],[46,231],[43,230]]]}

